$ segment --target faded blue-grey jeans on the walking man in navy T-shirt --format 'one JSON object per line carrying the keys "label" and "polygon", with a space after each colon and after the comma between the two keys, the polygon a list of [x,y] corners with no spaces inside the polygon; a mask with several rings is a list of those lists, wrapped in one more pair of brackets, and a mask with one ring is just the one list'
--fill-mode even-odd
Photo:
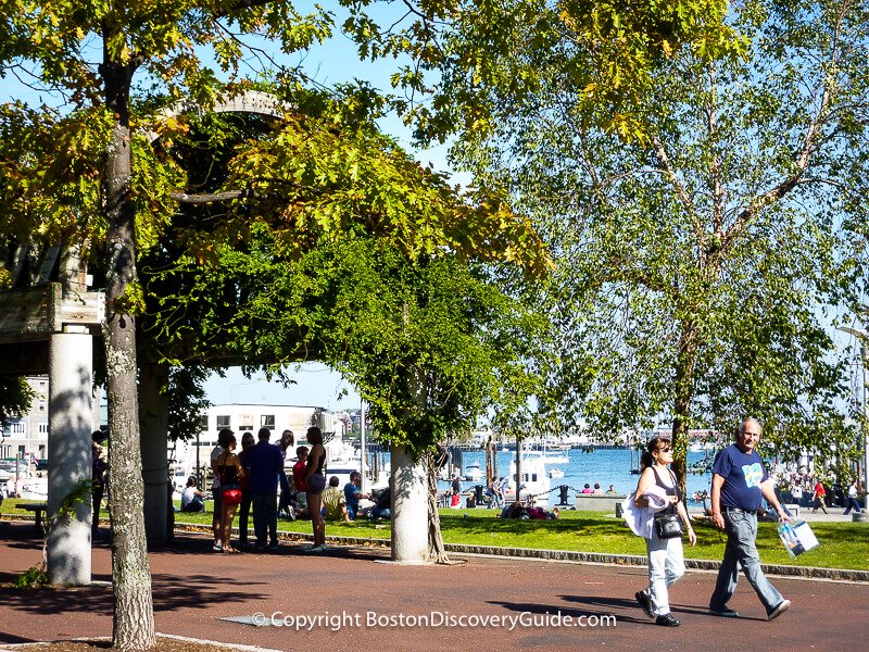
{"label": "faded blue-grey jeans on the walking man in navy T-shirt", "polygon": [[715,591],[709,599],[709,607],[722,610],[727,606],[728,600],[736,589],[739,569],[742,566],[745,578],[757,593],[760,602],[771,612],[783,598],[776,590],[764,572],[760,569],[760,556],[757,554],[755,540],[757,539],[757,514],[754,512],[743,512],[725,507],[725,531],[727,532],[727,547],[725,548],[725,559],[721,568],[718,570],[718,580],[715,582]]}

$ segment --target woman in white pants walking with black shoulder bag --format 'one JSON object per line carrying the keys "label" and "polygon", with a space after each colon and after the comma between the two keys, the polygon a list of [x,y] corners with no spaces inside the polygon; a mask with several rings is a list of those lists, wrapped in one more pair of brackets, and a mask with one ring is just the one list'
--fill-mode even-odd
{"label": "woman in white pants walking with black shoulder bag", "polygon": [[[697,542],[694,528],[688,519],[684,502],[680,496],[676,476],[669,468],[672,462],[672,447],[669,439],[653,437],[646,444],[641,459],[643,468],[637,491],[628,497],[631,502],[630,516],[633,518],[631,529],[645,538],[648,553],[648,587],[637,592],[637,602],[655,625],[679,627],[680,623],[670,613],[668,588],[682,577],[685,572],[682,552],[682,536],[669,536],[666,523],[658,521],[681,521],[688,530],[691,546]],[[630,509],[635,507],[635,509]],[[675,527],[676,523],[670,523]],[[662,536],[664,535],[664,536]]]}

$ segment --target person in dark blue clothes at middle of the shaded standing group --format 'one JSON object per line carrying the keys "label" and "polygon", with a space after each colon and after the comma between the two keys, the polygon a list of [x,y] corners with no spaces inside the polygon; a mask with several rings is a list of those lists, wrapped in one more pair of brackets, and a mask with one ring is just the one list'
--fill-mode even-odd
{"label": "person in dark blue clothes at middle of the shaded standing group", "polygon": [[253,531],[257,550],[265,548],[266,529],[269,549],[278,549],[278,474],[284,468],[280,449],[268,443],[272,430],[260,428],[260,441],[244,454],[251,467],[251,494],[253,497]]}

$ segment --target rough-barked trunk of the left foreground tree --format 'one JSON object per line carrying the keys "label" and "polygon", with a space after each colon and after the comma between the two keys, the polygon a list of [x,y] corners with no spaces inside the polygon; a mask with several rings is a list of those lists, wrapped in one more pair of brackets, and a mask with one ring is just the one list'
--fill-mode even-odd
{"label": "rough-barked trunk of the left foreground tree", "polygon": [[[110,35],[103,37],[108,40]],[[136,322],[128,302],[122,300],[136,280],[135,214],[129,197],[133,168],[129,88],[133,72],[129,64],[112,63],[106,50],[100,73],[105,83],[106,106],[114,112],[116,122],[103,173],[103,211],[108,223],[103,336],[111,437],[109,504],[115,597],[112,638],[118,650],[148,650],[154,647],[156,639],[142,513],[144,492],[136,386]]]}

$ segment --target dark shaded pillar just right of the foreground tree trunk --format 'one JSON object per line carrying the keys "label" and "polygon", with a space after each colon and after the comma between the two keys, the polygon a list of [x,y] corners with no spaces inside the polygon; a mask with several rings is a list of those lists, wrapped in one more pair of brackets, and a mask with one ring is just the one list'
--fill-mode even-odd
{"label": "dark shaded pillar just right of the foreground tree trunk", "polygon": [[139,372],[139,437],[144,481],[144,535],[149,543],[165,543],[168,516],[168,383],[164,364],[143,364]]}

